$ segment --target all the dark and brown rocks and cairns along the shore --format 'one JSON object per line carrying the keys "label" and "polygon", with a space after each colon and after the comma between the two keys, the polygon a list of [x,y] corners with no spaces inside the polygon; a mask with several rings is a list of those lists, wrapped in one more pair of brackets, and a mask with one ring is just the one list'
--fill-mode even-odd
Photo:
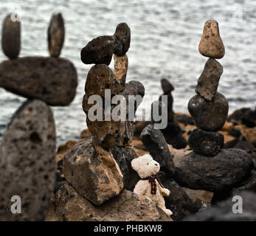
{"label": "all the dark and brown rocks and cairns along the shore", "polygon": [[[162,94],[151,105],[149,121],[134,121],[145,89],[139,81],[126,82],[128,25],[118,24],[114,35],[89,41],[80,52],[83,63],[93,64],[81,101],[88,129],[81,131],[79,140],[60,145],[57,153],[49,106],[72,103],[77,87],[75,66],[59,58],[63,18],[60,13],[52,15],[46,58],[18,58],[21,24],[7,15],[3,29],[2,48],[10,60],[0,64],[0,86],[27,101],[13,114],[0,145],[0,205],[8,208],[10,198],[18,195],[22,214],[0,212],[1,221],[255,221],[255,111],[241,108],[228,117],[228,102],[218,92],[223,67],[216,59],[224,57],[225,48],[217,21],[204,25],[198,49],[209,59],[188,103],[190,114],[173,111],[174,86],[163,78]],[[15,50],[8,50],[10,46]],[[112,58],[114,70],[108,67]],[[107,117],[107,112],[103,120],[91,119],[91,96],[96,95],[101,103],[95,111],[118,116],[125,108],[123,119]],[[123,97],[123,103],[113,101],[116,96]],[[130,105],[134,110],[128,109]],[[170,190],[165,205],[173,212],[171,217],[150,198],[133,192],[140,178],[131,161],[145,153],[160,164],[159,178]],[[244,198],[244,218],[230,215],[234,195]],[[220,218],[216,214],[222,209]]]}

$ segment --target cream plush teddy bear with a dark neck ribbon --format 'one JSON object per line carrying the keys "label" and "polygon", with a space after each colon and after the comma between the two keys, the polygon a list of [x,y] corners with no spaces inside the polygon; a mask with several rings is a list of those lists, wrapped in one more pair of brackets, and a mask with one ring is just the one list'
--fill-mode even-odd
{"label": "cream plush teddy bear with a dark neck ribbon", "polygon": [[141,178],[134,187],[134,192],[150,198],[167,215],[173,215],[170,209],[165,208],[165,199],[163,196],[170,195],[170,190],[165,189],[157,176],[160,170],[160,164],[154,161],[151,155],[145,154],[144,156],[133,159],[131,161],[131,167]]}

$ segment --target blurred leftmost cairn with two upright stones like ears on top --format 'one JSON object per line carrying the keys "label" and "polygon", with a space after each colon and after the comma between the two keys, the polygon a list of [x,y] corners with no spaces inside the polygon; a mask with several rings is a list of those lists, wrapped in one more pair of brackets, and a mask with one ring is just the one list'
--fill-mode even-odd
{"label": "blurred leftmost cairn with two upright stones like ears on top", "polygon": [[[27,100],[15,111],[0,145],[0,221],[44,221],[55,187],[56,133],[49,105],[68,105],[75,97],[77,72],[58,58],[64,41],[61,14],[48,31],[51,57],[18,58],[21,22],[4,19],[1,46],[10,60],[0,63],[0,87]],[[53,58],[54,57],[54,58]],[[11,206],[21,212],[13,214]]]}

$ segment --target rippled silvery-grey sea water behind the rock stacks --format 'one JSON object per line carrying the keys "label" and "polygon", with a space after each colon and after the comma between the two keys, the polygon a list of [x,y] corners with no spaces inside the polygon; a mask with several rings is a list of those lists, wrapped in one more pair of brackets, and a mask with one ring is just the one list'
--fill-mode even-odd
{"label": "rippled silvery-grey sea water behind the rock stacks", "polygon": [[[71,105],[52,108],[58,144],[77,139],[80,131],[86,128],[81,103],[86,75],[92,65],[80,62],[80,49],[92,38],[113,35],[120,22],[126,22],[131,27],[127,80],[141,81],[146,94],[153,96],[162,93],[160,80],[166,77],[175,86],[174,111],[187,113],[187,103],[195,94],[196,81],[207,60],[198,52],[204,22],[209,18],[217,20],[226,47],[226,55],[219,60],[224,66],[224,73],[218,91],[229,100],[229,113],[236,108],[254,108],[256,105],[255,0],[11,2],[1,2],[0,21],[13,8],[21,11],[21,57],[48,55],[46,30],[50,17],[54,12],[63,13],[66,39],[61,57],[75,63],[79,85]],[[0,52],[0,60],[5,59],[3,52]],[[111,66],[113,68],[113,62]],[[0,136],[24,100],[0,88]],[[150,105],[148,102],[147,107],[150,108]]]}

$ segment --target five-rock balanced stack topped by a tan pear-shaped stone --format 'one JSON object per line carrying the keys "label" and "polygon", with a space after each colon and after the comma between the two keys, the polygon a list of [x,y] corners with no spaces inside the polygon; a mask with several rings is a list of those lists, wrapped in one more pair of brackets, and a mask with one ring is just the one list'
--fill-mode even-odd
{"label": "five-rock balanced stack topped by a tan pear-shaped stone", "polygon": [[198,129],[189,137],[193,152],[173,160],[175,179],[190,189],[229,192],[249,178],[253,163],[243,150],[221,149],[224,136],[217,131],[224,126],[229,105],[217,91],[223,68],[215,58],[222,58],[225,53],[217,21],[206,21],[199,52],[209,59],[198,78],[197,94],[188,103]]}

